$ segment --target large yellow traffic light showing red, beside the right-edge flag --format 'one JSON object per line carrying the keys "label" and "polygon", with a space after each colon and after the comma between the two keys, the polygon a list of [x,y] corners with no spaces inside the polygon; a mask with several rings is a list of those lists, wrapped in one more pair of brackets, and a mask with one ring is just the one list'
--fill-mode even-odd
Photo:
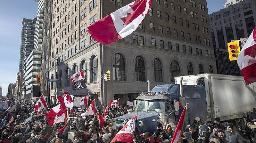
{"label": "large yellow traffic light showing red, beside the right-edge flag", "polygon": [[240,53],[239,41],[227,43],[229,61],[237,60],[237,56]]}

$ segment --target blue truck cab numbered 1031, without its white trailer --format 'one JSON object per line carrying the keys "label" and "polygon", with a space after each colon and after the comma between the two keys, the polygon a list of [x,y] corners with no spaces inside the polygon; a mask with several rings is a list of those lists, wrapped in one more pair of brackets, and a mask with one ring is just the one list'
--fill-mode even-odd
{"label": "blue truck cab numbered 1031, without its white trailer", "polygon": [[[180,100],[186,99],[188,123],[192,124],[195,117],[202,121],[207,120],[206,94],[202,85],[183,85],[183,98],[180,98],[180,85],[165,84],[155,86],[151,92],[141,94],[136,98],[136,110],[126,115],[112,119],[112,128],[125,119],[137,115],[136,127],[140,133],[151,132],[157,129],[157,124],[167,125],[171,122],[178,123],[183,111]],[[178,104],[179,103],[179,104]]]}

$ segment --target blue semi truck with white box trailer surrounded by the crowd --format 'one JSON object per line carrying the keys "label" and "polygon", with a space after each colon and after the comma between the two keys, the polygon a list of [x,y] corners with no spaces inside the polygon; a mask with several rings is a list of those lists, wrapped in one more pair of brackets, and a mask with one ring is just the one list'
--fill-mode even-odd
{"label": "blue semi truck with white box trailer surrounded by the crowd", "polygon": [[162,125],[177,123],[186,103],[189,104],[186,124],[192,124],[195,117],[203,122],[212,122],[219,117],[221,121],[234,120],[237,126],[243,124],[242,128],[245,128],[245,114],[256,107],[255,85],[246,85],[243,77],[232,75],[175,77],[175,84],[158,85],[139,95],[135,111],[112,119],[112,128],[137,114],[138,131],[154,132],[157,122]]}

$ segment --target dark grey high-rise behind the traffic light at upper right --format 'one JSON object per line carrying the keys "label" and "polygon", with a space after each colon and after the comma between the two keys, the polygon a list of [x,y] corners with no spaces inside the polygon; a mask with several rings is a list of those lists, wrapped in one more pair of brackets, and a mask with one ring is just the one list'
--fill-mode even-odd
{"label": "dark grey high-rise behind the traffic light at upper right", "polygon": [[250,36],[256,23],[255,4],[255,0],[243,0],[209,15],[219,74],[242,75],[236,61],[229,61],[227,43]]}

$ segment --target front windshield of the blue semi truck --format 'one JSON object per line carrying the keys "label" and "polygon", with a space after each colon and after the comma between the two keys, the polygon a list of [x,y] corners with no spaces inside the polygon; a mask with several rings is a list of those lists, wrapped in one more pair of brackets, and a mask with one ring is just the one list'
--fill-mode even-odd
{"label": "front windshield of the blue semi truck", "polygon": [[164,112],[164,101],[144,101],[139,100],[137,103],[138,111],[156,111]]}

